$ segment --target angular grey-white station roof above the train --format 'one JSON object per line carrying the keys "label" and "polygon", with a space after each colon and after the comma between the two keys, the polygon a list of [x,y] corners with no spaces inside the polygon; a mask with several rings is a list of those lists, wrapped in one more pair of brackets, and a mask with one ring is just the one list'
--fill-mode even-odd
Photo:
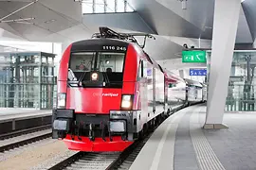
{"label": "angular grey-white station roof above the train", "polygon": [[[100,1],[104,2],[95,2]],[[201,47],[210,47],[214,0],[188,0],[187,9],[182,9],[181,2],[176,0],[127,2],[134,8],[133,12],[82,14],[82,4],[72,0],[0,0],[0,35],[26,41],[75,42],[91,37],[99,26],[147,32],[156,35],[156,40],[149,41],[145,48],[156,60],[180,58],[183,43],[198,47],[199,38]],[[16,12],[9,15],[13,11]],[[33,19],[19,21],[29,18]],[[245,0],[236,42],[251,45],[255,38],[256,1]]]}

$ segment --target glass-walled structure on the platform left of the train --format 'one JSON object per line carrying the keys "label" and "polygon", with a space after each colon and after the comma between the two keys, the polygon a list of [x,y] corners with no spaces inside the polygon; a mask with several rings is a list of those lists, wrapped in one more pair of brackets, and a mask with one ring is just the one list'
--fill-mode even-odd
{"label": "glass-walled structure on the platform left of the train", "polygon": [[[0,107],[51,109],[49,103],[53,102],[52,91],[56,86],[54,66],[41,65],[39,53],[2,53],[0,56]],[[46,61],[47,56],[44,58]],[[40,72],[41,84],[45,82],[47,86],[45,89],[40,89]],[[39,100],[40,93],[44,94],[46,104],[41,104],[44,100]]]}

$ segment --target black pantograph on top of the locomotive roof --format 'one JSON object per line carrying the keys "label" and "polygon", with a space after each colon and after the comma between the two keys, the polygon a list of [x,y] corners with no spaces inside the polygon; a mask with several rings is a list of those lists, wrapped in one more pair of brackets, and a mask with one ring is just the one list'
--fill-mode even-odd
{"label": "black pantograph on top of the locomotive roof", "polygon": [[[147,34],[147,33],[118,33],[104,26],[100,26],[99,29],[100,29],[100,33],[93,34],[92,38],[108,38],[108,39],[119,39],[123,41],[136,42],[137,45],[139,45],[141,48],[145,47],[147,38],[155,40],[155,37],[153,35]],[[144,36],[144,41],[142,45],[137,42],[137,39],[135,38],[135,36],[137,37]]]}

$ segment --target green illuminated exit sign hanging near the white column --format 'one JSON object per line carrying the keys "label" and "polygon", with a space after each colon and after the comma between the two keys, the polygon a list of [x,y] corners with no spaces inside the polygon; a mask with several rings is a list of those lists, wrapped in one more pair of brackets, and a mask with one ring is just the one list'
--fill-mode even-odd
{"label": "green illuminated exit sign hanging near the white column", "polygon": [[182,51],[182,62],[206,62],[206,51]]}

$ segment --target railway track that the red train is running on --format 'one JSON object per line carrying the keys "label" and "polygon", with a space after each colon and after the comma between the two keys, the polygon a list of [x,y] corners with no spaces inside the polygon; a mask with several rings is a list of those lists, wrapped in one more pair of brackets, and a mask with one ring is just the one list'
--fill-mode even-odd
{"label": "railway track that the red train is running on", "polygon": [[[177,110],[176,110],[177,111]],[[174,114],[171,113],[171,114]],[[171,115],[170,114],[170,115]],[[169,116],[168,116],[169,117]],[[138,153],[147,143],[150,136],[161,123],[167,117],[161,119],[161,121],[145,134],[145,137],[141,140],[131,144],[124,151],[119,153],[88,153],[78,152],[73,156],[60,161],[57,164],[48,168],[48,170],[77,170],[77,169],[101,169],[101,170],[128,170],[132,163],[136,160]]]}

